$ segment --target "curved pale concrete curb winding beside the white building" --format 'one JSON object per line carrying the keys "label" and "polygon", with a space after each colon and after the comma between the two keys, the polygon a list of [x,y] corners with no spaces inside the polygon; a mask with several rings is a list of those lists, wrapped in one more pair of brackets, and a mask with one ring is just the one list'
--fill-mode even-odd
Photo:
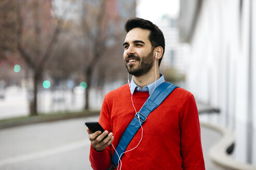
{"label": "curved pale concrete curb winding beside the white building", "polygon": [[256,167],[251,164],[239,162],[228,155],[227,149],[235,143],[235,135],[233,131],[220,125],[202,121],[200,122],[200,125],[222,134],[221,140],[213,145],[209,150],[210,158],[214,163],[233,170],[256,170]]}

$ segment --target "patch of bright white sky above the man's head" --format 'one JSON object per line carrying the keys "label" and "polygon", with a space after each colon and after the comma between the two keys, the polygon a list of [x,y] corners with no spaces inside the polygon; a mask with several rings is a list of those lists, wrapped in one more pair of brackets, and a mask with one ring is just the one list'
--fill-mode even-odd
{"label": "patch of bright white sky above the man's head", "polygon": [[138,0],[136,16],[150,20],[151,22],[156,22],[165,14],[177,17],[179,10],[179,0]]}

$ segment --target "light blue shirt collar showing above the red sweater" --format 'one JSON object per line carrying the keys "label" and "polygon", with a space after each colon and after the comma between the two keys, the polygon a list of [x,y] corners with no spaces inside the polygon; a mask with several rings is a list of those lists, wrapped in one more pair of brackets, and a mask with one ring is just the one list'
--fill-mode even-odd
{"label": "light blue shirt collar showing above the red sweater", "polygon": [[[164,80],[164,77],[162,74],[160,74],[160,78],[156,81],[156,88],[161,84],[163,83],[165,80]],[[133,80],[133,77],[132,77],[132,80],[131,80],[131,83],[130,83],[130,90],[131,90],[131,93],[133,94],[134,91],[139,91],[139,92],[149,92],[149,94],[151,94],[153,92],[153,90],[155,89],[155,81],[152,82],[151,84],[148,84],[147,86],[143,87],[143,88],[140,88],[137,86],[137,84],[134,82]]]}

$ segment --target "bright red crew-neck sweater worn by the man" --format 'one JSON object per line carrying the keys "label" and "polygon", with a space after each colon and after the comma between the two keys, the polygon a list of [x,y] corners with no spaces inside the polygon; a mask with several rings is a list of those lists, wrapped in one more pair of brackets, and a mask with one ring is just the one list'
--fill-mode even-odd
{"label": "bright red crew-neck sweater worn by the man", "polygon": [[[137,111],[148,96],[148,92],[133,93],[133,103]],[[127,84],[105,96],[99,123],[105,130],[113,133],[112,144],[115,148],[134,115],[131,92]],[[137,146],[141,137],[140,128],[126,150]],[[89,160],[93,169],[108,169],[113,153],[111,145],[101,152],[91,147]],[[205,169],[194,96],[182,88],[176,88],[150,113],[143,124],[143,139],[139,146],[124,153],[121,161],[122,170]]]}

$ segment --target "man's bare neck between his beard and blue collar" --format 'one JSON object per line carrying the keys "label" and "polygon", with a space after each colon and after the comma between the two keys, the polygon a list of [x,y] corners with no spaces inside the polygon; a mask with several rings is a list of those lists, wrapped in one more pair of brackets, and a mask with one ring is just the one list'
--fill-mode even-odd
{"label": "man's bare neck between his beard and blue collar", "polygon": [[[156,78],[157,75],[157,78]],[[157,74],[155,73],[155,69],[150,70],[147,74],[136,77],[133,76],[134,82],[137,84],[138,87],[143,88],[148,84],[151,84],[155,80],[160,78],[159,69],[157,69]]]}

